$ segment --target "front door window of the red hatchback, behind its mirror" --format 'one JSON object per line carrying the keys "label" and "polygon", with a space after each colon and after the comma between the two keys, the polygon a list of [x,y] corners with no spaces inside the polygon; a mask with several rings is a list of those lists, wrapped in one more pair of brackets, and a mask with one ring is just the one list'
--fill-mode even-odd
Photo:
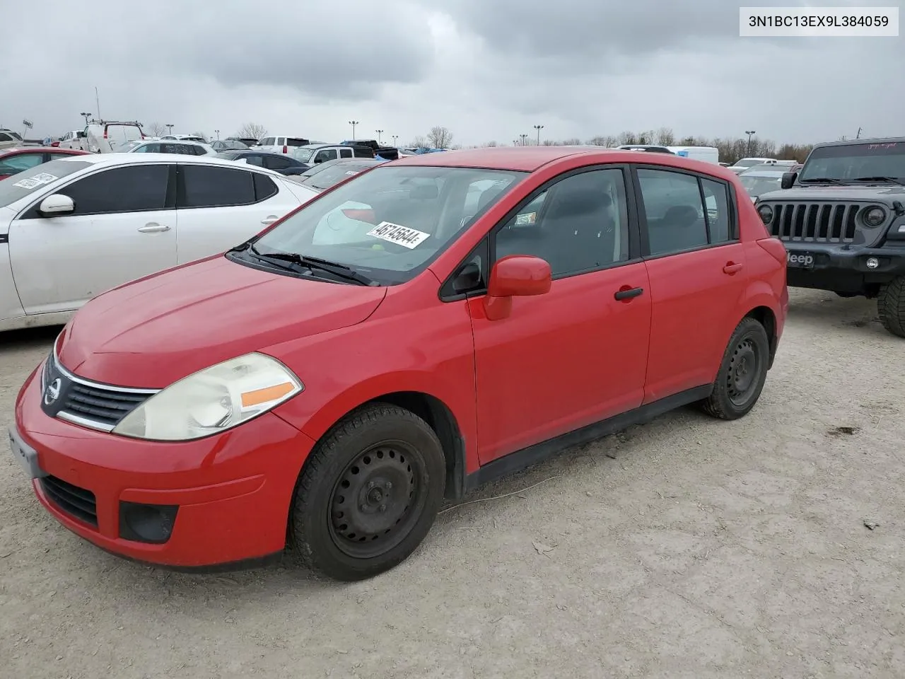
{"label": "front door window of the red hatchback, behind its mirror", "polygon": [[534,255],[550,264],[554,276],[625,262],[626,205],[622,169],[595,169],[561,179],[500,228],[496,258]]}

